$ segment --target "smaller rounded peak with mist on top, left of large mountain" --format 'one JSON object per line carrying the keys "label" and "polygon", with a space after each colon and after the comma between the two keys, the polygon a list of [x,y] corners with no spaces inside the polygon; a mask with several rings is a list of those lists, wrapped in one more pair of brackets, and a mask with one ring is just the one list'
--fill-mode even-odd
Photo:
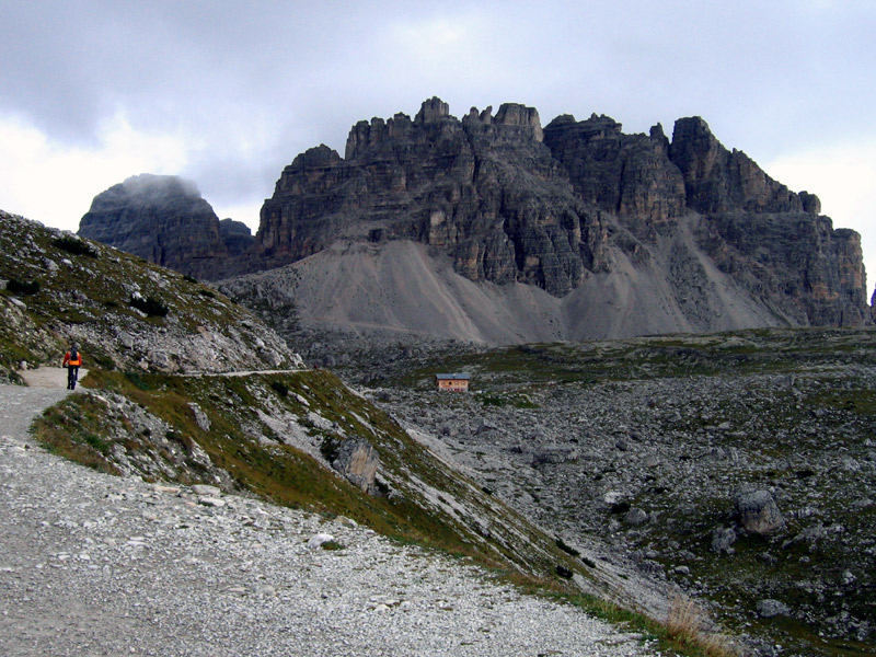
{"label": "smaller rounded peak with mist on top, left of large mountain", "polygon": [[191,182],[141,174],[94,197],[79,234],[198,278],[227,273],[254,240],[241,221],[219,218]]}

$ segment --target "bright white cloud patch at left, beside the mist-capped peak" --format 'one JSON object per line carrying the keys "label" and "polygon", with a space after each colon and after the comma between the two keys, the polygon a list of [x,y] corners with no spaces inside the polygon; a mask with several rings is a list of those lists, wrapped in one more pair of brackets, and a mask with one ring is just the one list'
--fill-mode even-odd
{"label": "bright white cloud patch at left, beside the mist-capped peak", "polygon": [[175,174],[191,145],[176,135],[135,129],[116,114],[96,146],[50,141],[37,128],[0,118],[0,208],[77,230],[96,194],[138,173]]}

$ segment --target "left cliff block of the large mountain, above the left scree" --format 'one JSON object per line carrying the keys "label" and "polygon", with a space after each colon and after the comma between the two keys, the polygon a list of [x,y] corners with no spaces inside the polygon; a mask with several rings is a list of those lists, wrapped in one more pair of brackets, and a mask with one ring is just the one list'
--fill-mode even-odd
{"label": "left cliff block of the large mountain, above the left scree", "polygon": [[459,120],[431,99],[413,119],[360,122],[345,158],[320,146],[286,168],[262,209],[258,257],[287,264],[338,237],[413,239],[472,280],[564,295],[604,266],[606,234],[542,138],[538,112],[515,104]]}

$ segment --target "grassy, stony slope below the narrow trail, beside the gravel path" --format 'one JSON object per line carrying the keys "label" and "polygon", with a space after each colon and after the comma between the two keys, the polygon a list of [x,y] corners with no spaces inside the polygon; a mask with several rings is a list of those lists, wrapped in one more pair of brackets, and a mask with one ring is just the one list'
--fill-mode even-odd
{"label": "grassy, stony slope below the narrow trail, beside the gravel path", "polygon": [[[550,576],[567,561],[546,537],[448,470],[327,371],[244,377],[96,371],[87,385],[95,392],[51,410],[37,430],[53,449],[100,470],[247,491],[535,576]],[[356,438],[377,451],[376,495],[333,473],[325,459]],[[308,445],[320,453],[308,453]],[[199,450],[208,461],[197,459]]]}

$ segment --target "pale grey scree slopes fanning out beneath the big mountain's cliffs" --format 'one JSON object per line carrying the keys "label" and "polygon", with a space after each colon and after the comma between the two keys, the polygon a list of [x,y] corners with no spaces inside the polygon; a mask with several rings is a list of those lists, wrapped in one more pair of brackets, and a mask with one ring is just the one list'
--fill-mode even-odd
{"label": "pale grey scree slopes fanning out beneath the big mountain's cliffs", "polygon": [[560,298],[522,283],[474,283],[456,273],[447,256],[412,241],[338,242],[218,288],[256,312],[308,360],[325,364],[451,341],[505,345],[785,323],[714,267],[707,283],[683,281],[704,296],[691,298],[682,312],[657,273],[669,261],[695,257],[693,238],[679,230],[647,269],[619,265],[615,275],[591,276]]}

